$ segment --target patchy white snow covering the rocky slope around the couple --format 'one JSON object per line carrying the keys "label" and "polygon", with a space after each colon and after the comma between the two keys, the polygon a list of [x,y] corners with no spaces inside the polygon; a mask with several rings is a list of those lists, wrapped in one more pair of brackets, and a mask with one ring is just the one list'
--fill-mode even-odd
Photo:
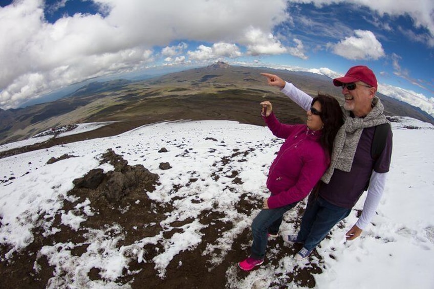
{"label": "patchy white snow covering the rocky slope around the couple", "polygon": [[[346,227],[335,227],[332,238],[321,242],[317,252],[323,258],[325,270],[315,275],[318,288],[434,288],[434,129],[431,124],[414,119],[401,118],[401,121],[393,123],[392,165],[373,225],[360,238],[345,241],[344,234],[356,222],[356,211],[353,210],[346,219]],[[406,126],[420,129],[408,129]],[[112,170],[111,165],[99,165],[98,161],[102,153],[112,148],[129,165],[142,164],[159,174],[161,185],[154,192],[147,192],[155,202],[171,202],[170,191],[173,186],[181,185],[177,195],[184,198],[172,202],[175,210],[167,215],[165,223],[194,219],[204,210],[225,213],[233,228],[222,235],[218,242],[220,245],[216,245],[219,248],[211,246],[208,252],[204,252],[204,257],[212,257],[215,263],[219,263],[219,256],[213,254],[214,250],[219,249],[219,254],[225,255],[235,236],[249,228],[256,215],[251,213],[246,216],[234,208],[240,192],[248,192],[258,198],[267,196],[266,175],[280,144],[281,141],[276,140],[267,127],[230,121],[180,121],[147,125],[119,136],[0,159],[0,177],[3,178],[0,185],[0,242],[13,246],[0,258],[8,259],[14,251],[26,248],[33,240],[32,229],[35,226],[42,226],[46,235],[60,230],[52,226],[53,221],[37,224],[39,216],[50,220],[53,219],[50,216],[61,211],[62,199],[73,188],[74,179],[98,167],[105,171]],[[164,155],[158,153],[162,147],[168,150]],[[240,161],[240,156],[234,156],[236,161],[232,160],[227,171],[219,172],[219,180],[214,181],[211,175],[217,168],[212,164],[233,155],[234,150],[251,153],[244,155],[243,161]],[[47,165],[51,157],[58,158],[63,154],[76,157]],[[180,154],[185,154],[185,157],[177,158]],[[161,162],[169,162],[172,168],[159,169]],[[238,172],[237,177],[243,184],[234,184],[226,176],[231,171]],[[183,186],[191,177],[198,181],[188,187]],[[201,203],[191,202],[198,196]],[[363,202],[364,196],[355,209],[361,209]],[[79,215],[62,214],[63,225],[78,229],[86,217],[93,214],[89,202],[82,203],[77,209],[81,212]],[[287,213],[281,231],[292,229],[287,220],[293,213]],[[116,287],[115,281],[121,276],[128,258],[131,258],[131,252],[139,262],[145,262],[141,248],[149,243],[163,244],[164,250],[153,261],[164,278],[165,268],[173,256],[201,242],[199,230],[203,226],[193,221],[184,226],[182,233],[174,234],[169,240],[160,234],[122,248],[116,248],[115,241],[107,240],[103,230],[93,230],[87,236],[92,239],[88,254],[71,258],[68,250],[74,248],[74,244],[45,246],[40,254],[49,257],[52,266],[62,269],[54,272],[50,284],[63,278],[71,287],[83,283],[89,287]],[[101,249],[103,255],[97,253]],[[126,251],[130,253],[126,254]],[[237,261],[240,260],[233,260],[233,263]],[[301,261],[300,265],[317,261],[311,257]],[[278,267],[264,263],[232,285],[251,288],[253,284],[260,283],[266,288],[273,282],[276,271],[291,272],[294,263],[292,256],[282,258]],[[100,274],[105,281],[85,279],[86,272],[95,264],[101,269]],[[227,271],[227,277],[232,282],[235,281],[234,270],[238,270],[235,265]]]}

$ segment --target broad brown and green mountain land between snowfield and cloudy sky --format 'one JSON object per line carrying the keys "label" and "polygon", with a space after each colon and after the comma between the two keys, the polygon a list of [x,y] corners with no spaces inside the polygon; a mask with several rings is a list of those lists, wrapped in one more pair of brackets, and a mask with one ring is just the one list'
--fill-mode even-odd
{"label": "broad brown and green mountain land between snowfield and cloudy sky", "polygon": [[[277,74],[311,96],[327,93],[343,102],[340,88],[326,76],[216,62],[141,81],[92,82],[53,102],[0,110],[0,143],[26,139],[51,127],[84,122],[133,121],[142,125],[178,119],[222,119],[264,125],[258,114],[259,102],[264,99],[275,104],[282,121],[304,122],[306,113],[270,87],[261,72]],[[434,124],[434,118],[420,108],[377,95],[386,115]]]}

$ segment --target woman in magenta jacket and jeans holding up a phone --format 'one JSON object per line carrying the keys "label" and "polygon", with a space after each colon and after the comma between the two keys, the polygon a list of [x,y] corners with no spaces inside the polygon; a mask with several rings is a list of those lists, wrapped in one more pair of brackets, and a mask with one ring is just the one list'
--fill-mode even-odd
{"label": "woman in magenta jacket and jeans holding up a phone", "polygon": [[338,101],[318,95],[307,112],[306,124],[281,124],[269,101],[261,102],[262,117],[278,138],[286,139],[273,161],[267,179],[271,196],[252,223],[253,244],[250,256],[238,266],[250,271],[264,262],[267,239],[277,236],[283,215],[305,198],[330,164],[333,141],[342,125]]}

